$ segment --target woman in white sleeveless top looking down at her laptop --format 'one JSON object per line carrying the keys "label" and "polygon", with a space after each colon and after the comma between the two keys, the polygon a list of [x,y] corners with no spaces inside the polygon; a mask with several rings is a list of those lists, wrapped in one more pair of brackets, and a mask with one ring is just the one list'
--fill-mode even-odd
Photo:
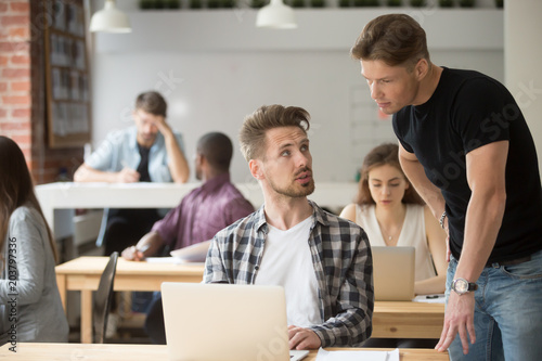
{"label": "woman in white sleeveless top looking down at her laptop", "polygon": [[414,246],[414,292],[441,294],[446,286],[446,232],[404,176],[397,144],[382,144],[364,158],[356,203],[340,217],[361,225],[372,246]]}

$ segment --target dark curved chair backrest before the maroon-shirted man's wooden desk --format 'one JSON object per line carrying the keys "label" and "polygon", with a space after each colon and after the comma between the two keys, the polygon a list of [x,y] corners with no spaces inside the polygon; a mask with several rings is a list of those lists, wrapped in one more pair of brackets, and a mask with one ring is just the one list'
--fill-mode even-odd
{"label": "dark curved chair backrest before the maroon-shirted man's wooden desk", "polygon": [[109,261],[102,273],[98,292],[94,298],[94,332],[96,344],[105,341],[105,330],[107,328],[107,317],[113,300],[113,283],[115,281],[115,271],[117,269],[118,253],[114,252],[109,256]]}

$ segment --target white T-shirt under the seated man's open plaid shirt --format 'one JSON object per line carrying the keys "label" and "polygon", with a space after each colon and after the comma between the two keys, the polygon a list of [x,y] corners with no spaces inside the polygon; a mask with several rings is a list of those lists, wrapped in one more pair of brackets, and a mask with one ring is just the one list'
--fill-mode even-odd
{"label": "white T-shirt under the seated man's open plaid shirt", "polygon": [[266,248],[255,284],[280,285],[286,294],[288,325],[322,323],[318,281],[309,247],[312,217],[282,231],[268,223]]}

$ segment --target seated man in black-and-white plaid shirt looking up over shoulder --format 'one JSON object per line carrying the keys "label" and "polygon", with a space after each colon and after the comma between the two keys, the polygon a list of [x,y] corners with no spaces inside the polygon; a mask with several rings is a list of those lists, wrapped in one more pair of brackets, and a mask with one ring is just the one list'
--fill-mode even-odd
{"label": "seated man in black-and-white plaid shirt looking up over shoulder", "polygon": [[204,282],[283,286],[291,349],[357,346],[372,332],[371,248],[360,227],[307,199],[309,119],[282,105],[245,118],[241,150],[264,204],[215,235]]}

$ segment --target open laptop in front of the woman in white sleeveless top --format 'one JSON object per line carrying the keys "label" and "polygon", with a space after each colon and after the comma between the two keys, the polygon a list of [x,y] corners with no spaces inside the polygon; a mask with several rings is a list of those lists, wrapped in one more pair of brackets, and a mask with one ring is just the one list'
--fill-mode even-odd
{"label": "open laptop in front of the woman in white sleeveless top", "polygon": [[371,247],[375,300],[414,298],[414,247]]}

